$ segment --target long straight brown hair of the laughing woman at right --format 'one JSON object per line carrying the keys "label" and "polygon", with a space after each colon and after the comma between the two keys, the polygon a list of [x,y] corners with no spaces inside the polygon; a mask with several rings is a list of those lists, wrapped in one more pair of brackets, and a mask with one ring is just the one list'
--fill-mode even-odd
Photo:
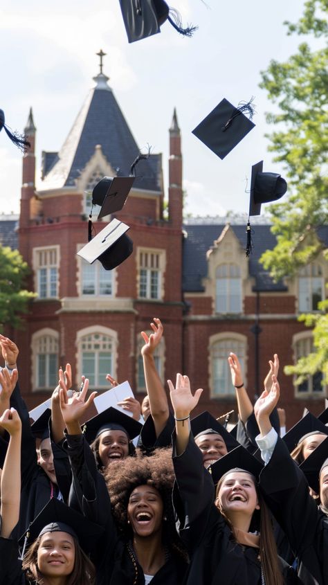
{"label": "long straight brown hair of the laughing woman at right", "polygon": [[[248,471],[246,471],[246,473],[248,473],[248,475],[250,475],[250,477],[253,479],[260,507],[259,510],[255,510],[253,513],[253,517],[250,522],[250,529],[259,531],[259,557],[261,559],[262,570],[264,573],[264,581],[266,585],[283,585],[284,579],[282,577],[282,571],[277,554],[277,546],[275,544],[275,538],[273,535],[271,516],[268,512],[268,507],[266,506],[266,503],[264,502],[264,499],[259,492],[255,477]],[[217,500],[219,498],[219,491],[223,479],[224,477],[222,477],[217,484]],[[224,510],[222,510],[221,507],[219,507],[219,510],[235,536],[233,525],[226,516]]]}

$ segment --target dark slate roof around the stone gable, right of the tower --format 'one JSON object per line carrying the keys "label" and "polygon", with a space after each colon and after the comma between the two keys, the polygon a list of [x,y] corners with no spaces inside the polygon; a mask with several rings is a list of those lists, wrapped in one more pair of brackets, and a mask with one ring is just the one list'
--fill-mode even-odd
{"label": "dark slate roof around the stone gable, right of the tower", "polygon": [[[187,237],[183,239],[183,291],[203,292],[202,278],[208,273],[208,262],[206,252],[213,245],[213,242],[221,235],[225,225],[222,224],[190,224],[183,226]],[[275,236],[270,231],[271,226],[253,226],[253,254],[249,258],[249,275],[255,278],[256,291],[286,291],[287,288],[282,282],[273,282],[268,272],[259,264],[259,257],[267,249],[275,246]],[[243,249],[246,247],[246,224],[231,225]]]}

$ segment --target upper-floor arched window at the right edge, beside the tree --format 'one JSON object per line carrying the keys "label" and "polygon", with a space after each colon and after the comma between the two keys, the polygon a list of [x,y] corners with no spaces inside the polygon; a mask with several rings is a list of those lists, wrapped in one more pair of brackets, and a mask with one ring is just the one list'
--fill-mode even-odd
{"label": "upper-floor arched window at the right edge, beside the tree", "polygon": [[324,298],[322,267],[317,262],[308,264],[298,276],[298,309],[300,312],[318,311],[318,303]]}

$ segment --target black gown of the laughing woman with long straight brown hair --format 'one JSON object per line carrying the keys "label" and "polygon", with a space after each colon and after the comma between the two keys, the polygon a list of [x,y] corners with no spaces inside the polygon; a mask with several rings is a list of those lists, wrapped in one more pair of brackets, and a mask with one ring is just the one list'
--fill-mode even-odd
{"label": "black gown of the laughing woman with long straight brown hair", "polygon": [[[175,439],[174,439],[175,440]],[[260,585],[258,549],[236,543],[214,504],[215,487],[192,436],[185,452],[174,456],[174,507],[180,534],[190,554],[186,585]],[[298,582],[282,561],[284,582]]]}

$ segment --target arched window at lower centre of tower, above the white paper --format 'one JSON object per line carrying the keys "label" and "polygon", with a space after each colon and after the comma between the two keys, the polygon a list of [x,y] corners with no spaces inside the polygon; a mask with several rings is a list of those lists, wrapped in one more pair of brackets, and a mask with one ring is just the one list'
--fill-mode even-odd
{"label": "arched window at lower centre of tower, above the white paper", "polygon": [[81,373],[89,379],[91,388],[108,388],[106,375],[116,375],[116,335],[111,335],[111,330],[104,332],[105,329],[94,328],[78,336]]}

